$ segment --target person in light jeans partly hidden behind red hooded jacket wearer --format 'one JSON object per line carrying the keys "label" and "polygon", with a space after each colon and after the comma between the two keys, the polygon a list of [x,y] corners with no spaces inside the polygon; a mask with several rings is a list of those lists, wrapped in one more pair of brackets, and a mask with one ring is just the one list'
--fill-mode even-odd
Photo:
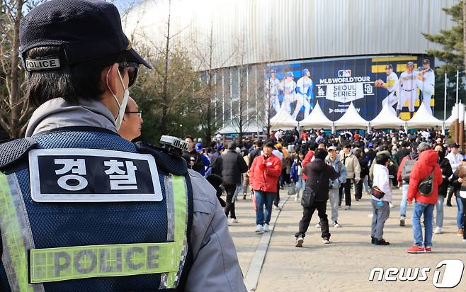
{"label": "person in light jeans partly hidden behind red hooded jacket wearer", "polygon": [[[426,147],[426,149],[424,149]],[[428,145],[423,144],[421,150],[428,150]],[[417,161],[419,154],[417,152],[416,145],[411,145],[411,153],[405,156],[402,159],[402,162],[399,164],[397,181],[398,186],[402,186],[402,202],[399,205],[399,225],[404,226],[406,220],[406,210],[407,210],[407,198],[408,198],[408,186],[409,186],[409,175],[411,174],[411,169],[413,168],[414,163]]]}

